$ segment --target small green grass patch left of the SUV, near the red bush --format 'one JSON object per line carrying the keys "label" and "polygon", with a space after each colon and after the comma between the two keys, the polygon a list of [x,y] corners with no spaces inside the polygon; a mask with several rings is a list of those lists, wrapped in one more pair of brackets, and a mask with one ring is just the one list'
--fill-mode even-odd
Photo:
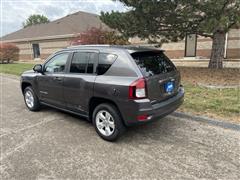
{"label": "small green grass patch left of the SUV, near the red bush", "polygon": [[14,63],[0,64],[0,73],[20,75],[26,70],[31,70],[34,64]]}

